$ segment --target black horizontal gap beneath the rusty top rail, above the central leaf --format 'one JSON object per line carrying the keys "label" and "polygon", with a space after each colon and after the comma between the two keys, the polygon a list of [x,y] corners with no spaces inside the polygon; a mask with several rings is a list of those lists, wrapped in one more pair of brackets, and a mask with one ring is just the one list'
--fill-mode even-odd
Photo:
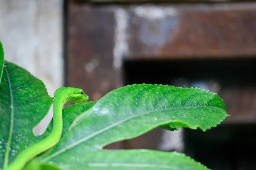
{"label": "black horizontal gap beneath the rusty top rail, above the central leaf", "polygon": [[[206,57],[207,58],[207,57]],[[190,81],[216,79],[221,87],[256,85],[255,58],[126,60],[125,84],[151,83],[174,85],[175,79]]]}

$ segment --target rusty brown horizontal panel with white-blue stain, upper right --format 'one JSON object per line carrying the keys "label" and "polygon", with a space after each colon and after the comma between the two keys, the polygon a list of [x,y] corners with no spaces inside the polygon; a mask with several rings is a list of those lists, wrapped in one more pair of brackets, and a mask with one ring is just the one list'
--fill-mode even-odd
{"label": "rusty brown horizontal panel with white-blue stain, upper right", "polygon": [[134,6],[129,12],[128,58],[256,55],[256,3]]}

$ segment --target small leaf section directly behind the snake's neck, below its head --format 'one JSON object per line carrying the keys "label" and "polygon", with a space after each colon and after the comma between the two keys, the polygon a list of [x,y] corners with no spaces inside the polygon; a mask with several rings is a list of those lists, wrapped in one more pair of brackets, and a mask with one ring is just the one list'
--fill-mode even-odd
{"label": "small leaf section directly behind the snake's neck, below its head", "polygon": [[[63,131],[62,136],[66,134],[71,126],[72,123],[79,122],[79,120],[87,113],[93,105],[96,104],[97,101],[90,101],[90,102],[81,102],[76,103],[75,105],[68,106],[62,110],[62,117],[63,117]],[[81,114],[83,113],[83,114]],[[75,120],[76,119],[76,120]],[[74,121],[75,120],[75,121]],[[53,126],[53,119],[49,123],[46,135],[48,135],[52,131]]]}

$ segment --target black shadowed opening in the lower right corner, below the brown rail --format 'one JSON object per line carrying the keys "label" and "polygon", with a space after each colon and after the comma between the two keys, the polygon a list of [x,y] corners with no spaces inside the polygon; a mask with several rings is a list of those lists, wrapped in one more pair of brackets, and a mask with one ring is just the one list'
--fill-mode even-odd
{"label": "black shadowed opening in the lower right corner, below the brown rail", "polygon": [[256,124],[184,130],[185,153],[211,170],[255,170]]}

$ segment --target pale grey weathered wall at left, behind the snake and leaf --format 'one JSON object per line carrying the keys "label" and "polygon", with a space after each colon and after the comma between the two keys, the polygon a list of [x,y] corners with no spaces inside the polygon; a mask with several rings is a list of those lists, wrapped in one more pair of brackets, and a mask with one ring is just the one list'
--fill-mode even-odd
{"label": "pale grey weathered wall at left, behind the snake and leaf", "polygon": [[[63,85],[62,0],[0,0],[5,59],[41,79],[50,96]],[[47,115],[36,133],[51,119]]]}

